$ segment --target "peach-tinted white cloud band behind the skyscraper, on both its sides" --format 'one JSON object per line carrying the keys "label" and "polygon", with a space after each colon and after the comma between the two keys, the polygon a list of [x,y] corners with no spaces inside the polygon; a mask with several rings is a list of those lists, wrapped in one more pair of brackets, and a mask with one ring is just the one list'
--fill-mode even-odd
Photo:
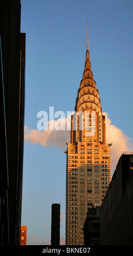
{"label": "peach-tinted white cloud band behind the skyscraper, on both its sides", "polygon": [[[124,134],[124,132],[111,124],[111,120],[108,118],[108,114],[103,112],[106,117],[106,143],[112,143],[111,145],[111,167],[112,173],[114,172],[119,157],[124,151],[133,151],[132,139]],[[71,115],[67,119],[60,118],[54,120],[54,130],[43,130],[30,129],[25,126],[24,129],[24,140],[31,144],[40,144],[43,147],[58,147],[61,151],[66,150],[66,142],[70,142],[70,126],[71,126]],[[56,130],[56,127],[65,127],[67,125],[69,130]],[[49,127],[50,123],[48,123]]]}

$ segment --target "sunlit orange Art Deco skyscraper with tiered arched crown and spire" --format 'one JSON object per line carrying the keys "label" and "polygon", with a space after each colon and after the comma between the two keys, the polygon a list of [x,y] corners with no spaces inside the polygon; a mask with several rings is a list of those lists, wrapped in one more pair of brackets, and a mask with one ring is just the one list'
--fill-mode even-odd
{"label": "sunlit orange Art Deco skyscraper with tiered arched crown and spire", "polygon": [[87,25],[85,68],[66,152],[66,245],[84,245],[87,209],[102,205],[111,181],[110,146],[106,144],[105,116],[91,69]]}

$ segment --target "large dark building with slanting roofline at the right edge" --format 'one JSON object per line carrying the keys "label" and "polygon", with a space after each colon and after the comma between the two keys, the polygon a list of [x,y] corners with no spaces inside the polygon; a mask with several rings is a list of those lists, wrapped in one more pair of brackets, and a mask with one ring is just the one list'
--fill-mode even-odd
{"label": "large dark building with slanting roofline at the right edge", "polygon": [[102,245],[133,245],[133,153],[120,157],[100,219]]}

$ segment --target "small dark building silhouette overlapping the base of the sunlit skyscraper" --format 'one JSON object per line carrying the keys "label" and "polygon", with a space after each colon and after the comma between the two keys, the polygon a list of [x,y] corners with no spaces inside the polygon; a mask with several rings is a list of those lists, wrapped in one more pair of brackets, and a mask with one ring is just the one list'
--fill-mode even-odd
{"label": "small dark building silhouette overlapping the base of the sunlit skyscraper", "polygon": [[100,245],[100,206],[88,208],[84,223],[84,245]]}

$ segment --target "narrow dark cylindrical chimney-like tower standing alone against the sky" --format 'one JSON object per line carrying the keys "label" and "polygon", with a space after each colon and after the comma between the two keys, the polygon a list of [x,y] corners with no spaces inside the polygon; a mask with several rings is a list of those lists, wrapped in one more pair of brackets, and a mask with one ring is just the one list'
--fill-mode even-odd
{"label": "narrow dark cylindrical chimney-like tower standing alone against the sky", "polygon": [[52,204],[51,245],[60,245],[60,204]]}

